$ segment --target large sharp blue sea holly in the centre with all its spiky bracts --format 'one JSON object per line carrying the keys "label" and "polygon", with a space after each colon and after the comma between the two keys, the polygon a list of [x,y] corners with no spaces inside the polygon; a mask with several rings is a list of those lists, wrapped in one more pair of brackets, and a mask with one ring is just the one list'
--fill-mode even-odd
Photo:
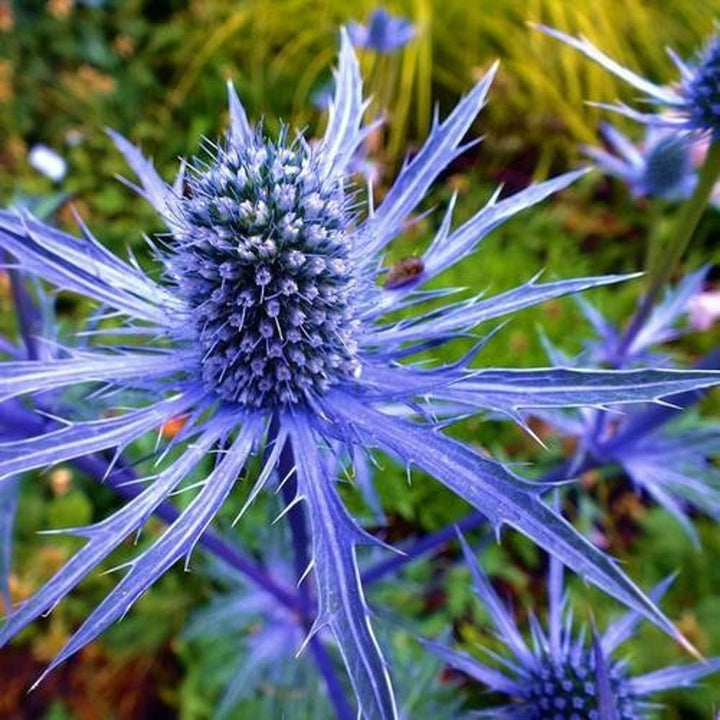
{"label": "large sharp blue sea holly in the centre with all its spiky bracts", "polygon": [[[101,326],[92,347],[2,365],[0,401],[61,388],[77,395],[80,387],[94,386],[103,391],[103,402],[94,420],[66,418],[47,433],[0,444],[0,482],[88,453],[120,453],[168,420],[185,419],[177,436],[158,439],[157,462],[138,480],[146,483],[142,493],[110,517],[69,531],[86,544],[9,616],[0,644],[54,607],[165,498],[183,489],[191,493],[177,520],[125,566],[48,672],[96,638],[162,573],[189,557],[249,459],[260,453],[262,470],[250,501],[277,468],[280,477],[292,479],[295,501],[309,516],[317,598],[312,631],[333,634],[362,713],[396,717],[355,557],[358,545],[376,540],[347,512],[336,488],[337,468],[357,451],[372,449],[434,475],[497,529],[520,530],[680,637],[615,562],[543,502],[543,488],[441,430],[487,410],[522,421],[521,410],[536,405],[659,399],[716,384],[718,373],[471,368],[477,352],[447,366],[413,362],[415,354],[481,323],[620,279],[533,278],[499,295],[460,299],[450,289],[426,287],[470,255],[491,229],[582,171],[507,199],[496,194],[455,228],[451,204],[422,255],[400,268],[383,267],[384,251],[407,217],[466,149],[462,140],[494,73],[495,67],[445,120],[435,118],[429,138],[377,207],[372,197],[363,203],[347,176],[368,128],[359,66],[344,32],[335,97],[317,144],[302,136],[290,140],[287,132],[265,139],[248,123],[232,86],[227,136],[209,157],[183,164],[170,185],[135,147],[113,135],[139,178],[138,191],[167,225],[169,235],[156,249],[162,282],[110,253],[85,226],[77,238],[27,213],[0,212],[0,248],[19,266],[127,318],[125,327],[111,323],[105,337]],[[432,309],[423,308],[430,300]],[[131,345],[119,344],[124,334]],[[108,412],[113,398],[116,407]],[[291,462],[283,466],[288,454]],[[198,481],[208,455],[215,466]]]}

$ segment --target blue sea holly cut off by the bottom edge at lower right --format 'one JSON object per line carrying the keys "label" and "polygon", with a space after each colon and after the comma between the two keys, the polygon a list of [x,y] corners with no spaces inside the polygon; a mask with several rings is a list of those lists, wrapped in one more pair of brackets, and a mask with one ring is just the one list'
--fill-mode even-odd
{"label": "blue sea holly cut off by the bottom edge at lower right", "polygon": [[[505,704],[480,711],[475,717],[642,720],[655,717],[658,704],[649,702],[651,696],[688,687],[720,670],[720,658],[711,658],[633,675],[627,662],[614,655],[632,638],[641,616],[631,611],[611,623],[602,635],[593,632],[588,641],[590,633],[573,630],[562,566],[554,559],[550,561],[547,627],[531,616],[528,644],[462,536],[460,541],[475,594],[510,657],[487,649],[490,663],[486,663],[440,642],[423,644],[448,665],[507,699]],[[652,597],[659,600],[671,581],[669,578],[656,587]]]}

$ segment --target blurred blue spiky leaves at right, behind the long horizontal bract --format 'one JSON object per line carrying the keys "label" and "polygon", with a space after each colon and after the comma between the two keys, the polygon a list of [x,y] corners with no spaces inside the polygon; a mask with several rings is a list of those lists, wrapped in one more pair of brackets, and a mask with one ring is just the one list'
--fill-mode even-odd
{"label": "blurred blue spiky leaves at right, behind the long horizontal bract", "polygon": [[[677,338],[679,320],[702,287],[708,268],[686,276],[666,292],[646,322],[627,341],[621,330],[588,302],[578,300],[597,338],[585,343],[577,358],[563,355],[546,339],[552,361],[573,367],[613,366],[619,369],[653,362],[671,366],[672,359],[656,346]],[[685,415],[679,422],[647,432],[623,432],[638,424],[643,410],[622,414],[602,409],[538,410],[533,414],[562,436],[577,441],[576,467],[586,456],[597,465],[619,465],[633,486],[663,507],[697,544],[697,532],[688,511],[699,509],[720,520],[720,469],[713,458],[720,455],[717,423]]]}

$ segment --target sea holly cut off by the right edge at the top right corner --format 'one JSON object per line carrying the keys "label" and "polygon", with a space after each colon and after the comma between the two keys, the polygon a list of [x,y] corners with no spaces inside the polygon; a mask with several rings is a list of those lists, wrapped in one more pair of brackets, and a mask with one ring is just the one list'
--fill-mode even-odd
{"label": "sea holly cut off by the right edge at the top right corner", "polygon": [[694,62],[686,63],[672,50],[670,57],[680,77],[672,86],[657,85],[623,67],[585,38],[574,38],[559,30],[536,26],[576,48],[617,77],[645,93],[660,112],[641,112],[624,104],[603,105],[647,125],[720,135],[720,37],[713,36]]}

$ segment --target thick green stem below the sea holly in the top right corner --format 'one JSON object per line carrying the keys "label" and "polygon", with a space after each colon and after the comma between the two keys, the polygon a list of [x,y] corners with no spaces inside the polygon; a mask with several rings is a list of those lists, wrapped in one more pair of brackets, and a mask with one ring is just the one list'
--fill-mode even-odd
{"label": "thick green stem below the sea holly in the top right corner", "polygon": [[[700,169],[695,191],[680,210],[677,221],[670,231],[670,239],[665,242],[664,247],[658,244],[656,248],[650,249],[650,263],[647,268],[648,289],[623,336],[618,348],[618,357],[625,355],[642,329],[662,289],[672,277],[675,268],[685,254],[700,218],[710,201],[718,177],[720,177],[720,140],[713,140]],[[660,243],[660,239],[656,236],[653,238],[653,244],[657,243]]]}

